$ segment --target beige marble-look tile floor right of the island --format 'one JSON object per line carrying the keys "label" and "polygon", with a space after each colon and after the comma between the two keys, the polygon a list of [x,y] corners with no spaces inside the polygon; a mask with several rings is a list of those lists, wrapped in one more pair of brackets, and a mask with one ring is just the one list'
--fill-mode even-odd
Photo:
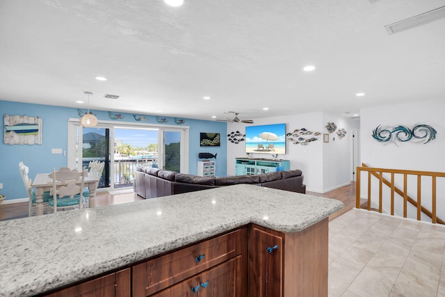
{"label": "beige marble-look tile floor right of the island", "polygon": [[329,296],[445,296],[445,227],[352,209],[329,223]]}

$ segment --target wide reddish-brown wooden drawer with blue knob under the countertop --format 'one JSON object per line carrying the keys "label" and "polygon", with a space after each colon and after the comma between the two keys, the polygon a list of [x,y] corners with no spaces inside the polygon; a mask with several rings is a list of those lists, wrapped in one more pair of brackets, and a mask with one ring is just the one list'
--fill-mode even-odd
{"label": "wide reddish-brown wooden drawer with blue knob under the countertop", "polygon": [[240,255],[242,233],[236,230],[133,266],[133,296],[149,296]]}

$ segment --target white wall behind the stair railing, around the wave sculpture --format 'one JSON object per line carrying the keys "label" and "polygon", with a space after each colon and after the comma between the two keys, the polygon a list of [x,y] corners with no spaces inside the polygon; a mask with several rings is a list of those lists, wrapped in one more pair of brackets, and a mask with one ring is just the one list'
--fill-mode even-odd
{"label": "white wall behind the stair railing, around the wave sculpture", "polygon": [[[445,171],[445,100],[424,101],[410,104],[398,104],[362,109],[361,111],[361,156],[362,162],[370,167]],[[404,125],[412,129],[417,124],[430,125],[437,131],[434,141],[423,144],[423,140],[408,142],[381,143],[372,137],[373,129],[378,125],[396,127]],[[366,179],[367,175],[362,175]],[[442,178],[443,179],[443,178]],[[437,216],[445,218],[445,181],[437,180]],[[403,188],[401,179],[396,179],[397,186]],[[416,177],[409,177],[408,192],[416,197]],[[362,183],[362,198],[366,197],[367,182]],[[386,191],[386,190],[385,190]],[[378,193],[375,186],[372,196]],[[422,179],[422,204],[429,207],[431,204],[430,179]],[[389,194],[388,194],[389,195]],[[384,201],[384,209],[389,211],[389,200]],[[396,202],[401,207],[401,204]],[[430,207],[429,207],[430,208]],[[401,210],[396,211],[401,214]]]}

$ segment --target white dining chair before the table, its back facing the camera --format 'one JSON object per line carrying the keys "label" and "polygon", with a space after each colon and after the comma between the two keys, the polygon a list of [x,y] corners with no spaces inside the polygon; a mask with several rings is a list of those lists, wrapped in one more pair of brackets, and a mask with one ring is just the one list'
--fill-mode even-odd
{"label": "white dining chair before the table, its back facing the camera", "polygon": [[52,179],[52,200],[48,202],[48,212],[57,212],[67,209],[81,209],[83,207],[83,182],[88,176],[88,170],[81,172],[75,170],[58,170],[53,168],[49,175]]}

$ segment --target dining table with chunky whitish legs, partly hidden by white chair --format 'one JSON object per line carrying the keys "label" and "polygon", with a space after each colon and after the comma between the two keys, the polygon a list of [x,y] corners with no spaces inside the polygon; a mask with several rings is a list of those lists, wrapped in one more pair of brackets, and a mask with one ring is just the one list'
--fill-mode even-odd
{"label": "dining table with chunky whitish legs, partly hidden by white chair", "polygon": [[[36,211],[37,216],[41,216],[43,214],[43,192],[51,190],[53,187],[53,181],[51,177],[49,177],[51,173],[38,173],[35,175],[35,179],[33,181],[33,188],[35,189],[35,200],[36,200]],[[89,207],[95,207],[95,196],[96,196],[96,188],[99,179],[94,177],[88,173],[88,177],[85,177],[83,181],[83,186],[88,187],[90,191],[90,202]],[[80,184],[81,181],[76,181],[76,184]],[[57,182],[60,184],[60,182]]]}

